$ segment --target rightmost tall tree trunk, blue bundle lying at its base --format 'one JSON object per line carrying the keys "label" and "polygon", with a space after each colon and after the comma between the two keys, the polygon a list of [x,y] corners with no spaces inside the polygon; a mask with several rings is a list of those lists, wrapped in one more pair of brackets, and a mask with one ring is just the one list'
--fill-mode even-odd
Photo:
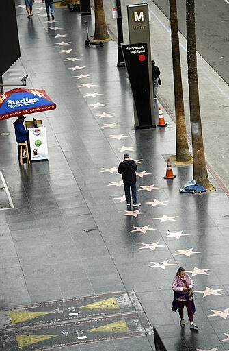
{"label": "rightmost tall tree trunk, blue bundle lying at its base", "polygon": [[213,186],[208,180],[198,90],[198,72],[196,60],[195,0],[186,0],[187,25],[187,64],[189,78],[189,109],[191,121],[191,139],[193,145],[193,179],[207,190]]}

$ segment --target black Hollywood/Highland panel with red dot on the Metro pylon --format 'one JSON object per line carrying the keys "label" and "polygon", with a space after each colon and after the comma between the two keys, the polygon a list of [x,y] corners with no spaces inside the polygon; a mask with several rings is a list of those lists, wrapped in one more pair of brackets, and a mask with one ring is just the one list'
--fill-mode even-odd
{"label": "black Hollywood/Highland panel with red dot on the Metro pylon", "polygon": [[147,43],[122,45],[135,106],[135,128],[156,127],[150,104]]}

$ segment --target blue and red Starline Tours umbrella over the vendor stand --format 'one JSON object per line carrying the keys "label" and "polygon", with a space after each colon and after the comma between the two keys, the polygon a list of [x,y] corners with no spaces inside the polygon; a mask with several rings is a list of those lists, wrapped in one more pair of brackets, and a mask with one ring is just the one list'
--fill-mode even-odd
{"label": "blue and red Starline Tours umbrella over the vendor stand", "polygon": [[56,104],[44,90],[15,88],[0,95],[0,121],[55,108]]}

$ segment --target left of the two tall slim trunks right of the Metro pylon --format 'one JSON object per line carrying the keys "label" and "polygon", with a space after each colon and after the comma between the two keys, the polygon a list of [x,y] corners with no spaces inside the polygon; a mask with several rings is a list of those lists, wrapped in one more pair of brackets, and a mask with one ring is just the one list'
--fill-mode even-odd
{"label": "left of the two tall slim trunks right of the Metro pylon", "polygon": [[189,152],[185,124],[176,0],[170,0],[170,26],[172,40],[172,66],[174,73],[174,100],[176,112],[176,161],[186,162],[191,160],[191,155]]}

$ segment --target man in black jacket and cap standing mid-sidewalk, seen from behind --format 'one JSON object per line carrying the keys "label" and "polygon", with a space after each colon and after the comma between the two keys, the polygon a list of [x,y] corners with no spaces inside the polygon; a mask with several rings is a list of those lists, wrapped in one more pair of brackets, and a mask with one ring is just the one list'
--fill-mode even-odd
{"label": "man in black jacket and cap standing mid-sidewalk, seen from behind", "polygon": [[127,206],[131,206],[131,191],[133,206],[141,206],[137,202],[136,170],[135,161],[130,159],[129,154],[124,154],[124,160],[118,166],[118,173],[122,174]]}

